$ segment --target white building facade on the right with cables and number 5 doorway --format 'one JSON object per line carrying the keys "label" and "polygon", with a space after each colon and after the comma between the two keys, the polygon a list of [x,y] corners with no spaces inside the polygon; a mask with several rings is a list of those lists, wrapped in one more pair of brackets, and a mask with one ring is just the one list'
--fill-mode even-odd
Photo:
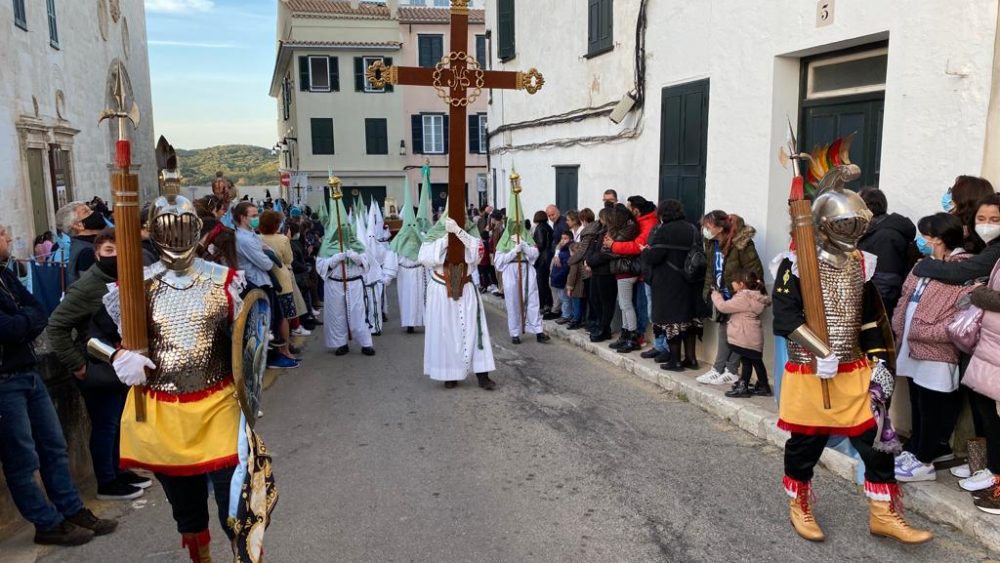
{"label": "white building facade on the right with cables and number 5 doorway", "polygon": [[[494,91],[488,116],[491,174],[516,167],[529,210],[596,209],[607,188],[674,197],[690,219],[740,214],[773,256],[789,121],[804,150],[856,132],[853,187],[913,218],[959,174],[1000,185],[995,0],[489,0],[486,14],[493,67],[546,79],[535,96]],[[629,93],[641,102],[612,122]]]}

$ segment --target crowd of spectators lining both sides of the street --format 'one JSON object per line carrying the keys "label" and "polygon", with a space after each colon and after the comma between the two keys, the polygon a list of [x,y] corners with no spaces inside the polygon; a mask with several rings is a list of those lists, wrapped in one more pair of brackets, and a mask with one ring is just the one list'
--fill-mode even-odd
{"label": "crowd of spectators lining both sides of the street", "polygon": [[[1000,195],[982,178],[959,176],[943,194],[941,209],[916,222],[891,213],[878,188],[860,195],[873,214],[860,249],[878,259],[872,281],[896,337],[896,375],[906,380],[910,397],[912,432],[896,458],[896,478],[933,480],[941,464],[951,463],[975,505],[1000,514]],[[307,206],[270,198],[236,201],[224,178],[193,207],[203,225],[201,258],[243,271],[246,291],[261,289],[271,302],[268,367],[298,367],[301,350],[293,337],[323,324],[324,283],[316,260],[328,226]],[[516,287],[505,286],[496,254],[524,253],[522,234],[530,236],[530,256],[537,250],[537,257],[528,265],[535,276],[529,285],[542,319],[586,331],[591,342],[638,353],[671,372],[701,369],[697,343],[706,323],[714,324],[715,354],[697,381],[729,386],[726,395],[733,398],[773,396],[763,320],[771,299],[754,227],[732,211],[687,216],[673,199],[655,203],[632,195],[619,201],[614,189],[595,207],[563,211],[549,205],[519,217],[523,225],[506,210],[471,207],[469,219],[484,247],[479,291],[502,296],[505,287]],[[6,266],[0,269],[0,461],[15,503],[35,525],[36,541],[75,545],[111,533],[115,522],[94,516],[70,478],[66,442],[33,352],[46,327],[90,418],[98,498],[134,499],[152,483],[119,470],[127,388],[85,346],[92,335],[117,333],[103,301],[117,280],[113,217],[95,198],[62,207],[56,219],[56,232],[38,236],[32,249],[36,264],[58,263],[65,272],[64,296],[54,311],[22,286],[12,267],[12,239],[0,228]],[[517,236],[505,238],[512,225]],[[147,265],[159,259],[148,240],[143,253]],[[515,328],[512,336],[520,343]],[[538,341],[547,341],[538,330]],[[775,371],[780,374],[780,366]],[[975,437],[963,445],[968,462],[955,465],[953,435],[966,405]]]}

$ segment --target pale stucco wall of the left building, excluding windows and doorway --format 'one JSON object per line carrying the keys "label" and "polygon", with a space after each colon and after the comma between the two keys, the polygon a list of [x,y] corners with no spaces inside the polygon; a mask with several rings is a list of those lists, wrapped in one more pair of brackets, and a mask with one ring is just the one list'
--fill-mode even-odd
{"label": "pale stucco wall of the left building, excluding windows and doorway", "polygon": [[[0,176],[4,202],[0,222],[10,226],[15,237],[23,237],[30,250],[31,240],[39,233],[34,232],[32,221],[24,154],[27,137],[19,133],[17,124],[30,123],[39,131],[57,128],[67,134],[77,130],[72,134],[70,164],[74,196],[89,200],[97,195],[110,201],[111,135],[107,123],[98,126],[97,117],[107,107],[106,80],[115,59],[125,65],[142,114],[139,130],[132,134],[132,154],[143,194],[155,193],[157,184],[143,3],[123,0],[116,22],[108,2],[56,2],[59,49],[49,45],[45,2],[27,0],[25,4],[27,31],[15,27],[12,3],[0,3],[0,25],[6,26],[0,32],[0,167],[7,171]],[[57,91],[65,99],[61,117],[56,110]],[[50,133],[30,137],[34,143],[56,140]],[[44,175],[51,221],[55,208],[47,160]]]}

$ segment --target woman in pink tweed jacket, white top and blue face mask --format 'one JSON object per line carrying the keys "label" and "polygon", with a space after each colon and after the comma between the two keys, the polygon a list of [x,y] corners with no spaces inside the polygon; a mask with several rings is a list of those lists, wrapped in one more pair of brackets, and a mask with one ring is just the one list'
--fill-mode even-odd
{"label": "woman in pink tweed jacket, white top and blue face mask", "polygon": [[[937,213],[918,224],[917,248],[927,260],[956,263],[971,255],[962,247],[958,217]],[[896,374],[908,378],[913,430],[903,453],[896,456],[898,481],[933,481],[934,462],[954,459],[948,446],[958,412],[959,351],[947,326],[958,313],[955,303],[968,292],[911,273],[903,283],[892,328],[899,346]]]}

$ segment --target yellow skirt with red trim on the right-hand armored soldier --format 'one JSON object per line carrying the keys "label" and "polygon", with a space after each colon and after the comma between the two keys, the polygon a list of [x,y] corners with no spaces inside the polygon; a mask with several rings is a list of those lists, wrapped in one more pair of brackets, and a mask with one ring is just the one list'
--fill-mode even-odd
{"label": "yellow skirt with red trim on the right-hand armored soldier", "polygon": [[823,386],[811,364],[788,362],[781,380],[778,427],[796,434],[859,436],[875,426],[868,387],[867,360],[840,364],[828,379],[830,409],[823,408]]}

